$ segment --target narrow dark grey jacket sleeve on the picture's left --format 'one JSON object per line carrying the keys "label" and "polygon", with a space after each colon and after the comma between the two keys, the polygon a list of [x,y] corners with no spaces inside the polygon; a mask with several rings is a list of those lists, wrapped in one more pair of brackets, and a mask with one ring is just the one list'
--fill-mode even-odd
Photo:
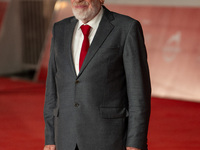
{"label": "narrow dark grey jacket sleeve on the picture's left", "polygon": [[54,139],[54,115],[53,110],[56,107],[56,83],[55,83],[55,75],[56,75],[56,64],[55,64],[55,33],[53,27],[53,38],[51,41],[51,50],[50,50],[50,59],[46,80],[46,92],[45,92],[45,103],[44,103],[44,120],[45,120],[45,145],[53,145],[55,144]]}

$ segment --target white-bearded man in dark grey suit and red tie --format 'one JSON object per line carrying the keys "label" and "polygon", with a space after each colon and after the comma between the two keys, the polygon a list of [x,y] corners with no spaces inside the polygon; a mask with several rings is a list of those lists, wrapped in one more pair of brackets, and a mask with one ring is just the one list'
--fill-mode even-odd
{"label": "white-bearded man in dark grey suit and red tie", "polygon": [[104,0],[71,0],[55,23],[44,150],[147,150],[151,87],[140,23]]}

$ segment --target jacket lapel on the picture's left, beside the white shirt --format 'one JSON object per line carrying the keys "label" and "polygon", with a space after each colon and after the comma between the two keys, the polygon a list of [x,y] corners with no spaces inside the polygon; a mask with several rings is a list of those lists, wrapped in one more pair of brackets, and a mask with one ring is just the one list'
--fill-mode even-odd
{"label": "jacket lapel on the picture's left, beside the white shirt", "polygon": [[78,21],[77,19],[72,18],[70,24],[66,23],[65,33],[64,33],[64,36],[65,36],[64,37],[64,39],[65,39],[64,49],[67,52],[67,60],[70,61],[70,66],[71,66],[71,69],[72,69],[75,77],[77,77],[77,75],[76,75],[76,71],[75,71],[75,67],[74,67],[74,61],[73,61],[73,55],[72,55],[72,39],[73,39],[74,28],[76,26],[77,21]]}

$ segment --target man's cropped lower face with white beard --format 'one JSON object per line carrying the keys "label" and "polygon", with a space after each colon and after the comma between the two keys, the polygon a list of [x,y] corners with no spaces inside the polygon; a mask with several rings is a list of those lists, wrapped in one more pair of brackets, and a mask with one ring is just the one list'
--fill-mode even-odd
{"label": "man's cropped lower face with white beard", "polygon": [[71,0],[74,16],[87,23],[99,12],[103,0]]}

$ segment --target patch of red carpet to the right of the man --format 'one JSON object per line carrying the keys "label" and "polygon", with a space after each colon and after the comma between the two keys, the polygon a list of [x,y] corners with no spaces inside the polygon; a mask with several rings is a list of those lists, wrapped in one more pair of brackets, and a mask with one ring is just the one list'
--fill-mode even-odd
{"label": "patch of red carpet to the right of the man", "polygon": [[200,150],[200,103],[152,98],[150,150]]}

